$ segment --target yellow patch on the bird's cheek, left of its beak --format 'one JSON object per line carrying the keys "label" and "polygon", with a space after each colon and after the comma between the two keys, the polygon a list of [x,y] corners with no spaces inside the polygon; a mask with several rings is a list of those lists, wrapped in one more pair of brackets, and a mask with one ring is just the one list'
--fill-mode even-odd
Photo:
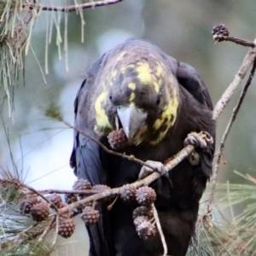
{"label": "yellow patch on the bird's cheek, left of its beak", "polygon": [[102,92],[100,96],[97,97],[94,108],[96,111],[96,125],[94,127],[95,131],[102,132],[106,128],[112,129],[109,123],[108,115],[106,114],[104,108],[102,108],[102,103],[107,101],[107,92]]}

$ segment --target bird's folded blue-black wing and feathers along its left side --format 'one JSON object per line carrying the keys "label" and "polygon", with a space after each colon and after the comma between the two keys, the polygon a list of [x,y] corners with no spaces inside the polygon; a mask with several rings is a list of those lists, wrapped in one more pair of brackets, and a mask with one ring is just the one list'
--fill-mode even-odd
{"label": "bird's folded blue-black wing and feathers along its left side", "polygon": [[[81,85],[78,95],[74,102],[75,126],[84,133],[94,137],[93,129],[88,123],[88,115],[90,115],[90,94],[93,93],[93,84],[96,74],[98,73],[104,55],[100,58],[93,67],[90,68],[87,74],[87,79]],[[89,106],[88,106],[89,104]],[[83,113],[80,113],[83,109]],[[70,165],[74,169],[74,173],[78,178],[85,178],[94,184],[105,184],[106,173],[102,167],[100,158],[101,148],[99,145],[91,141],[88,137],[78,131],[74,131],[73,152],[70,158]],[[107,207],[97,205],[96,209],[100,212],[100,219],[96,224],[87,226],[90,237],[90,256],[112,256],[113,243],[111,241],[110,227],[108,221]]]}

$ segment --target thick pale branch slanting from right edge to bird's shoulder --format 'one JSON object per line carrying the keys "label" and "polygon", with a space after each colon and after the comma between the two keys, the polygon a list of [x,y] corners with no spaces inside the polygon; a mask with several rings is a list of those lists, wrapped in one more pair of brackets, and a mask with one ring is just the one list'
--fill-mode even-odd
{"label": "thick pale branch slanting from right edge to bird's shoulder", "polygon": [[[256,39],[253,41],[253,43],[256,44]],[[227,103],[230,102],[231,96],[234,94],[236,88],[241,83],[241,80],[245,77],[247,71],[253,64],[255,56],[256,56],[256,47],[249,50],[249,52],[247,53],[247,55],[245,56],[244,60],[241,63],[241,67],[236,73],[235,79],[229,85],[229,87],[224,91],[224,94],[221,96],[221,98],[218,100],[213,110],[212,119],[214,120],[218,119],[218,116],[220,115],[220,113],[222,113]]]}

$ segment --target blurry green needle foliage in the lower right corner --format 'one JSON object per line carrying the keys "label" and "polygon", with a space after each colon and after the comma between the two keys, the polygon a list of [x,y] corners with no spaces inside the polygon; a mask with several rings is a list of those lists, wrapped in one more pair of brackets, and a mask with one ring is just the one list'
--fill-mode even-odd
{"label": "blurry green needle foliage in the lower right corner", "polygon": [[[212,207],[212,214],[200,215],[189,247],[189,256],[240,256],[256,253],[256,179],[236,173],[250,183],[217,184],[214,194],[217,203]],[[239,208],[240,213],[233,207]]]}

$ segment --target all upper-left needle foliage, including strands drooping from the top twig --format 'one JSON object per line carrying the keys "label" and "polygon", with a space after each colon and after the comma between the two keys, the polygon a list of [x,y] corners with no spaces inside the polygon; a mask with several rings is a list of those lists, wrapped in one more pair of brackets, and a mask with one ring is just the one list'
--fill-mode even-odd
{"label": "all upper-left needle foliage, including strands drooping from the top twig", "polygon": [[[29,3],[29,1],[26,0],[0,0],[0,106],[3,106],[3,101],[7,100],[9,115],[14,108],[15,84],[20,73],[23,71],[24,74],[24,56],[31,47],[30,40],[32,38],[32,29],[39,15],[42,11],[45,12],[45,73],[49,73],[48,45],[51,42],[55,42],[57,45],[60,59],[62,58],[61,51],[64,49],[66,68],[68,70],[67,17],[69,11],[66,12],[61,9],[68,8],[69,6],[78,7],[77,11],[74,13],[80,15],[81,41],[84,42],[85,22],[81,7],[81,4],[84,3],[87,3],[87,1],[40,0]],[[93,4],[93,2],[90,3]],[[46,10],[51,7],[60,9],[55,11]],[[55,38],[53,38],[54,35]]]}

